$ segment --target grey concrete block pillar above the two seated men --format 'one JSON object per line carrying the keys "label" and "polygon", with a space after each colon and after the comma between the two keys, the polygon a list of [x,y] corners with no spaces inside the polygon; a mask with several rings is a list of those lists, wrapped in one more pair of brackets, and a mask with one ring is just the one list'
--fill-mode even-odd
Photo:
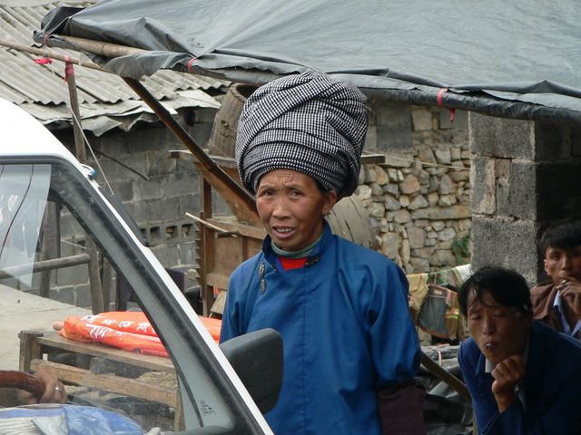
{"label": "grey concrete block pillar above the two seated men", "polygon": [[506,266],[537,285],[537,241],[547,225],[581,218],[578,129],[470,113],[475,268]]}

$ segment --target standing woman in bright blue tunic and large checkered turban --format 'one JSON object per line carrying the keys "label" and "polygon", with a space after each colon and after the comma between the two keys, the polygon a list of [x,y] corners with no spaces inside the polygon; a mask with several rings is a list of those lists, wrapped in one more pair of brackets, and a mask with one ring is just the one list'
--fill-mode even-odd
{"label": "standing woman in bright blue tunic and large checkered turban", "polygon": [[262,86],[241,113],[236,159],[268,236],[231,275],[221,341],[281,333],[277,435],[426,433],[406,276],[324,219],[357,189],[368,116],[355,86],[313,72]]}

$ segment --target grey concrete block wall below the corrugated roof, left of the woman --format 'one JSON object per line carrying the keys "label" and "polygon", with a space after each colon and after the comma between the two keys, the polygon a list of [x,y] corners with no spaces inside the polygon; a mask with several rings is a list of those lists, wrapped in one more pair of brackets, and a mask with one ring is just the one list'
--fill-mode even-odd
{"label": "grey concrete block wall below the corrugated roof, left of the woman", "polygon": [[[183,121],[183,127],[202,148],[208,146],[215,114],[216,110],[212,109],[182,114],[182,120],[187,120],[187,123]],[[74,152],[72,131],[55,131],[54,134]],[[169,150],[185,148],[182,143],[161,122],[140,124],[138,130],[130,132],[111,131],[98,138],[86,131],[85,134],[99,161],[100,168],[93,159],[88,162],[97,170],[98,182],[111,186],[162,265],[181,272],[195,267],[195,223],[185,213],[200,213],[201,177],[191,161],[168,158]],[[84,233],[80,227],[74,226],[74,218],[63,214],[61,229],[68,242],[64,255],[82,253]],[[51,298],[77,306],[90,306],[86,277],[86,265],[59,270],[53,276]],[[198,286],[187,275],[185,281],[186,289]],[[113,292],[112,309],[114,301]]]}

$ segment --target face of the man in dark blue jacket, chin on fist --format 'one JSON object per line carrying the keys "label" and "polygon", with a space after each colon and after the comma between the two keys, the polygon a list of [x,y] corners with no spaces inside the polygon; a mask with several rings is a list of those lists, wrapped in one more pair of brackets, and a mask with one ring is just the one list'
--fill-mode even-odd
{"label": "face of the man in dark blue jacket, chin on fist", "polygon": [[490,292],[482,294],[482,301],[474,293],[468,296],[468,331],[491,362],[522,355],[531,323],[532,312],[524,315],[513,307],[498,304]]}

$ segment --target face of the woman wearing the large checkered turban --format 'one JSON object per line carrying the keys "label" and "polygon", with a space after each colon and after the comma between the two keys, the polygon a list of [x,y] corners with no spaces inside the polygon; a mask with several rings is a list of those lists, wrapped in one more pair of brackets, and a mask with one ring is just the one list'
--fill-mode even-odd
{"label": "face of the woman wearing the large checkered turban", "polygon": [[323,218],[337,194],[324,195],[309,175],[275,169],[261,177],[256,206],[262,223],[277,247],[297,251],[310,246],[323,230]]}

